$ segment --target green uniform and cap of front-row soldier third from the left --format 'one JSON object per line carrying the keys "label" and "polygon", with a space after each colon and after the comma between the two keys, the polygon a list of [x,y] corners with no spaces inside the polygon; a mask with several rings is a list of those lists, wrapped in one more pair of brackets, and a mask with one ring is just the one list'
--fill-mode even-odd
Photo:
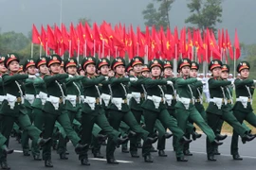
{"label": "green uniform and cap of front-row soldier third from the left", "polygon": [[[82,59],[82,68],[85,70],[88,64],[96,65],[96,59],[93,57],[86,57]],[[82,144],[91,143],[91,134],[94,124],[98,124],[101,129],[108,135],[113,143],[119,142],[119,131],[111,127],[105,116],[105,112],[101,107],[101,92],[98,85],[106,78],[104,76],[83,76],[82,87],[85,96],[84,104],[82,105]],[[83,165],[90,165],[88,162],[87,151],[85,150],[79,156]]]}

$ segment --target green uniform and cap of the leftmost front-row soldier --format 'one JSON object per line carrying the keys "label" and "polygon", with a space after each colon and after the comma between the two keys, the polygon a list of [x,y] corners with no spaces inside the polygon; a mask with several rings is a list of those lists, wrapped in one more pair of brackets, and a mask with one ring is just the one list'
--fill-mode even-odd
{"label": "green uniform and cap of the leftmost front-row soldier", "polygon": [[[13,60],[19,61],[19,58],[16,54],[9,54],[5,59],[6,67],[9,66],[9,63]],[[34,78],[35,76],[30,76]],[[33,144],[37,144],[41,131],[32,126],[27,116],[27,110],[23,105],[23,90],[21,88],[21,81],[27,79],[27,75],[17,75],[9,74],[3,75],[3,87],[5,89],[4,94],[7,95],[6,99],[2,103],[0,109],[0,122],[1,122],[1,132],[2,134],[9,139],[9,134],[13,127],[13,123],[17,121],[19,125],[23,128],[24,131],[27,131],[27,134],[32,139]],[[8,166],[6,155],[1,151],[2,167],[4,165]]]}

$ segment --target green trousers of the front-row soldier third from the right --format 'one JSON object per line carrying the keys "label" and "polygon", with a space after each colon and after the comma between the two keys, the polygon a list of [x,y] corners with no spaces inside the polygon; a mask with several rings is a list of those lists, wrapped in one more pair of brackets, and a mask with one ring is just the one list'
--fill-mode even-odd
{"label": "green trousers of the front-row soldier third from the right", "polygon": [[[202,118],[201,114],[195,107],[190,108],[190,110],[182,110],[177,108],[176,109],[176,119],[178,127],[180,127],[183,131],[186,131],[188,121],[192,120],[198,127],[202,129],[202,131],[207,135],[210,142],[213,142],[215,139],[215,134],[212,129],[208,126],[206,121]],[[177,157],[183,157],[183,145],[177,144],[176,151]]]}

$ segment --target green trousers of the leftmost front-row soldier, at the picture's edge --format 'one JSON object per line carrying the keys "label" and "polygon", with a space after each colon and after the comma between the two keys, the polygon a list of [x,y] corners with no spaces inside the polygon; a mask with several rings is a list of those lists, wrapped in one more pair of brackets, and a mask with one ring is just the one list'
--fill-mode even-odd
{"label": "green trousers of the leftmost front-row soldier, at the picture's edge", "polygon": [[[27,131],[27,135],[32,139],[32,144],[37,144],[38,139],[40,138],[41,130],[31,125],[28,115],[22,112],[19,112],[17,117],[4,114],[0,115],[0,129],[3,136],[5,136],[6,139],[9,139],[9,135],[15,121],[17,121],[19,126],[24,131]],[[6,142],[6,144],[9,145],[9,140]],[[0,161],[5,161],[6,159],[7,155],[5,155],[3,151],[0,151]]]}

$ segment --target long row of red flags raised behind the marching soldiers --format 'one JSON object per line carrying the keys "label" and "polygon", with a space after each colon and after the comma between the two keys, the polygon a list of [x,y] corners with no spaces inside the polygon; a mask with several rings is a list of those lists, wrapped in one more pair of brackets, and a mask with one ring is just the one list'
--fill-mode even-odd
{"label": "long row of red flags raised behind the marching soldiers", "polygon": [[[146,26],[145,31],[137,30],[131,25],[116,25],[114,28],[106,22],[101,26],[96,23],[89,26],[82,23],[69,26],[69,31],[62,24],[61,28],[54,26],[41,26],[39,33],[36,26],[32,27],[32,43],[41,44],[49,53],[49,49],[55,54],[64,55],[68,51],[70,57],[74,57],[74,52],[83,56],[95,56],[96,53],[101,57],[124,57],[125,53],[132,59],[135,56],[148,59],[178,59],[182,58],[203,60],[227,59],[228,53],[230,59],[238,59],[241,55],[237,31],[235,30],[234,45],[229,39],[228,30],[218,30],[218,42],[210,29],[200,31],[199,29],[186,29],[183,27],[178,31],[174,27],[174,33],[170,28],[166,31],[163,27],[159,30],[152,26],[150,29]],[[234,48],[234,49],[233,49]],[[233,50],[235,50],[233,52]]]}

